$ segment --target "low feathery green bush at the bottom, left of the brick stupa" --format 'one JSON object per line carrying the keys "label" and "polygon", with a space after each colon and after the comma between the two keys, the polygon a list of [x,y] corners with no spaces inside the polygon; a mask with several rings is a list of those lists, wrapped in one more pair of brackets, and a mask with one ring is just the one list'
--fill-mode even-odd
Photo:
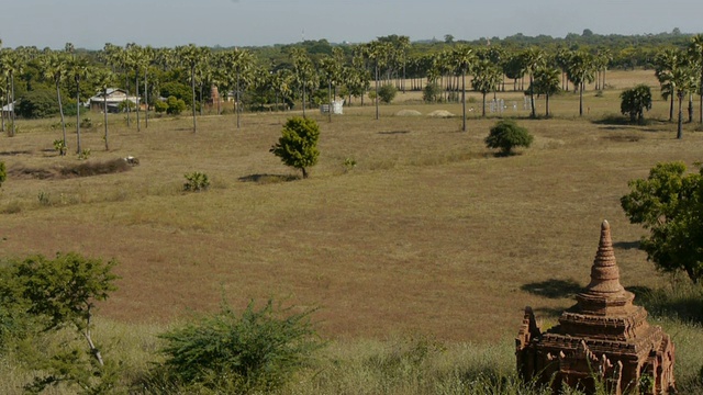
{"label": "low feathery green bush at the bottom, left of the brick stupa", "polygon": [[167,376],[224,393],[280,387],[322,347],[310,321],[313,311],[284,316],[288,312],[275,309],[271,301],[258,311],[250,302],[241,315],[225,305],[160,335]]}

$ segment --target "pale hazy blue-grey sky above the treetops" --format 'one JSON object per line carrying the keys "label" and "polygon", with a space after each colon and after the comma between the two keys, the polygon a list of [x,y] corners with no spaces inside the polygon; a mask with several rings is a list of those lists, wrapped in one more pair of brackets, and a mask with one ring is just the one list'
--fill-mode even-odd
{"label": "pale hazy blue-grey sky above the treetops", "polygon": [[[666,5],[665,5],[666,4]],[[249,46],[305,40],[412,41],[516,33],[563,37],[703,32],[701,0],[0,0],[3,46],[102,48],[105,43]]]}

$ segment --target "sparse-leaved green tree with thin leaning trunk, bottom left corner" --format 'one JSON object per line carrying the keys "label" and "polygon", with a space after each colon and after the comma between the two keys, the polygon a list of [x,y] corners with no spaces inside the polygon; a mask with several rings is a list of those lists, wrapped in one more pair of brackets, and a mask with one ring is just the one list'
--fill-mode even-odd
{"label": "sparse-leaved green tree with thin leaning trunk, bottom left corner", "polygon": [[[112,273],[116,262],[69,252],[58,253],[55,259],[34,256],[3,263],[0,345],[16,341],[22,358],[36,370],[25,390],[38,393],[67,384],[85,393],[109,391],[116,381],[116,363],[103,361],[91,330],[96,302],[116,290],[119,278]],[[63,339],[58,349],[40,346],[52,336]]]}

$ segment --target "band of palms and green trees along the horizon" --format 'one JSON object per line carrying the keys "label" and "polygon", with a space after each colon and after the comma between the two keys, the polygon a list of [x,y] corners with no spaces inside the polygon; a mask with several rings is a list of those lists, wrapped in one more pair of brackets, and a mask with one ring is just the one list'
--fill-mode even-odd
{"label": "band of palms and green trees along the horizon", "polygon": [[[97,92],[107,97],[110,88],[124,89],[146,106],[144,112],[141,105],[124,103],[127,125],[134,123],[137,131],[148,127],[149,110],[179,113],[189,105],[197,132],[197,115],[202,115],[208,103],[212,103],[211,111],[217,114],[225,110],[224,102],[213,101],[212,87],[234,103],[232,111],[238,128],[245,108],[281,110],[300,103],[304,116],[311,105],[336,98],[344,98],[349,104],[357,100],[364,105],[365,97],[370,97],[378,117],[379,89],[388,86],[400,91],[424,90],[427,101],[464,103],[466,129],[467,89],[480,92],[483,104],[490,93],[524,91],[529,95],[533,117],[537,116],[535,95],[545,98],[545,115],[549,116],[550,95],[573,91],[580,95],[582,115],[587,84],[605,89],[609,69],[645,65],[655,69],[662,93],[671,99],[670,117],[674,98],[681,104],[688,97],[692,121],[693,94],[701,94],[703,80],[703,35],[674,31],[647,36],[600,36],[587,31],[563,40],[545,36],[527,40],[516,35],[471,43],[454,42],[450,36],[444,42],[412,43],[408,36],[389,35],[355,45],[333,45],[321,40],[256,48],[193,44],[155,48],[134,43],[124,46],[107,43],[100,50],[77,49],[70,43],[60,50],[0,48],[0,104],[38,92],[55,97],[52,101],[57,111],[51,115],[62,116],[64,145],[65,110],[77,116],[77,153],[81,150],[78,104]],[[536,45],[543,42],[547,44]],[[647,53],[644,59],[637,53],[641,50]],[[469,83],[467,77],[471,78]],[[7,116],[3,113],[1,127],[9,135],[15,133],[15,113],[31,117],[48,112],[40,105],[23,106],[23,103],[16,103],[18,111]],[[107,101],[104,105],[104,142],[109,149]],[[699,112],[702,114],[699,122],[703,122],[703,108]]]}

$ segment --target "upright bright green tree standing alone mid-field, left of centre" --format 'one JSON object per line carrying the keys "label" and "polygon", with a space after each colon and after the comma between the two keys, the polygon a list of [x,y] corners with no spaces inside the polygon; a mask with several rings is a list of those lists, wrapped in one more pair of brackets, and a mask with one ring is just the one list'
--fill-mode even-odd
{"label": "upright bright green tree standing alone mid-field, left of centre", "polygon": [[300,169],[308,178],[308,168],[317,163],[320,126],[314,120],[294,116],[283,126],[282,135],[270,151],[286,166]]}

